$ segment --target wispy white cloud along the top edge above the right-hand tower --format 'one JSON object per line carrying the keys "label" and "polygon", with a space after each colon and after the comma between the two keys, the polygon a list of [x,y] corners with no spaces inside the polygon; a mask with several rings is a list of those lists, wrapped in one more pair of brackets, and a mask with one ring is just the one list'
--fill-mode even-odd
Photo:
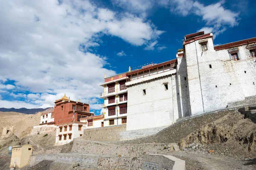
{"label": "wispy white cloud along the top edge above the right-hand tower", "polygon": [[[237,26],[239,23],[239,13],[226,9],[224,1],[212,3],[208,6],[196,0],[112,0],[114,5],[121,6],[144,13],[156,6],[169,8],[173,14],[187,16],[195,14],[201,17],[206,23],[204,28],[212,28],[212,32],[217,36],[228,27]],[[207,31],[208,31],[207,30]]]}

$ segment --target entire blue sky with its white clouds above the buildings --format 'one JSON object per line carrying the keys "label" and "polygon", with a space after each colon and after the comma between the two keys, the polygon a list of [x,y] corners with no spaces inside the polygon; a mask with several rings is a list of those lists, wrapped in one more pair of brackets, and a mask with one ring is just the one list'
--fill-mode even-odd
{"label": "entire blue sky with its white clouds above the buildings", "polygon": [[256,37],[253,0],[0,2],[0,107],[46,108],[64,93],[101,111],[104,74],[175,59],[185,34]]}

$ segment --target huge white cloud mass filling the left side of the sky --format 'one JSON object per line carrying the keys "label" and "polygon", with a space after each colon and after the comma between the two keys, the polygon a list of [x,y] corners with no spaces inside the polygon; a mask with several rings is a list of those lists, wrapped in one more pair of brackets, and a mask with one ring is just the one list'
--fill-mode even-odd
{"label": "huge white cloud mass filling the left side of the sky", "polygon": [[84,102],[99,97],[104,74],[116,74],[104,68],[107,57],[92,52],[102,35],[148,45],[164,32],[145,18],[99,8],[89,0],[0,1],[0,11],[0,79],[29,91],[26,102],[35,107],[52,106],[64,93]]}

